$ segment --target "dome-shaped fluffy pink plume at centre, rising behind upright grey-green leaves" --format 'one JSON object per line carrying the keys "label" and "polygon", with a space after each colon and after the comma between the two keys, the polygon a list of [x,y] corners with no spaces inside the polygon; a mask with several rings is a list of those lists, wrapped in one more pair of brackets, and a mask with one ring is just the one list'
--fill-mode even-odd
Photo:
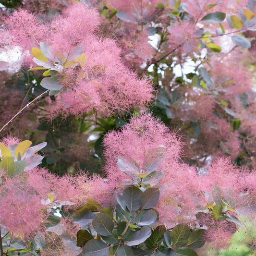
{"label": "dome-shaped fluffy pink plume at centre, rising behind upright grey-green leaves", "polygon": [[107,134],[104,145],[107,159],[105,170],[111,183],[116,184],[129,179],[117,166],[119,157],[135,161],[142,170],[144,161],[148,159],[146,156],[154,158],[157,150],[164,148],[165,159],[160,168],[165,169],[177,162],[181,148],[175,134],[169,133],[168,128],[150,114],[133,117],[121,131]]}

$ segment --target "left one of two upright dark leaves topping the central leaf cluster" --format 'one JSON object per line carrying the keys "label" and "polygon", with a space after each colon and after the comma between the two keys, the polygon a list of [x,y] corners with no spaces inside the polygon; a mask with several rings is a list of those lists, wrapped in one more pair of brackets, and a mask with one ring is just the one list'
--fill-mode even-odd
{"label": "left one of two upright dark leaves topping the central leaf cluster", "polygon": [[134,212],[141,207],[140,199],[141,199],[142,191],[139,188],[135,186],[128,187],[123,191],[122,195],[123,195],[125,204],[130,212]]}

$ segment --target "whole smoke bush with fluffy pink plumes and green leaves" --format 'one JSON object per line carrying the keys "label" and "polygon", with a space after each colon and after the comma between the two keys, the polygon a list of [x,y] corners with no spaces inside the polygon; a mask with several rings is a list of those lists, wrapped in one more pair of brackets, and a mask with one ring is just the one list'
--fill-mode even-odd
{"label": "whole smoke bush with fluffy pink plumes and green leaves", "polygon": [[[47,112],[52,121],[79,116],[88,144],[91,131],[104,133],[93,151],[95,158],[104,158],[104,169],[102,175],[80,171],[58,177],[37,167],[43,159],[37,151],[46,143],[31,146],[29,140],[3,138],[1,256],[196,256],[194,249],[204,244],[228,247],[244,227],[239,216],[255,219],[256,213],[256,173],[232,163],[244,155],[255,161],[253,68],[241,56],[254,52],[256,2],[65,4],[45,18],[46,10],[39,9],[39,17],[24,9],[5,16],[7,10],[1,16],[0,47],[20,51],[28,72],[44,71],[37,80],[28,75],[27,93],[41,85],[47,91],[38,98],[51,97],[41,112],[38,106],[40,115]],[[154,47],[148,36],[158,38]],[[228,54],[218,38],[233,44],[225,49]],[[188,60],[194,68],[183,74]],[[179,65],[181,76],[174,71]],[[8,61],[0,61],[0,70],[9,68]],[[17,115],[30,106],[27,93],[22,101],[27,105]],[[3,112],[12,100],[2,104]],[[149,102],[147,114],[142,108]],[[113,114],[123,116],[118,122]],[[170,132],[154,115],[181,129]],[[178,135],[183,131],[184,151]],[[101,143],[105,151],[99,156]],[[203,170],[193,165],[196,161]]]}

